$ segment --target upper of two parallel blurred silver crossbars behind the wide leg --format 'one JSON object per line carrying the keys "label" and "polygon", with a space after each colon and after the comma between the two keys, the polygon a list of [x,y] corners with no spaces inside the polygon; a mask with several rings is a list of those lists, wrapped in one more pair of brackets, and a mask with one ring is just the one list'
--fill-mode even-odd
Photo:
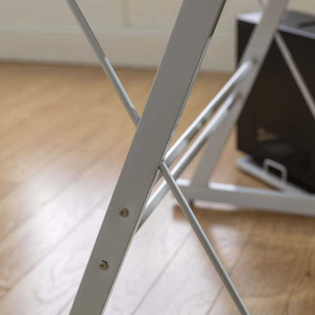
{"label": "upper of two parallel blurred silver crossbars behind the wide leg", "polygon": [[207,120],[211,117],[213,112],[219,107],[223,99],[232,91],[236,83],[243,79],[252,68],[252,61],[244,62],[232,76],[231,79],[223,86],[220,92],[212,99],[212,101],[205,107],[195,121],[186,129],[180,138],[173,144],[165,157],[165,164],[170,167],[175,159],[185,150],[189,142],[205,125]]}

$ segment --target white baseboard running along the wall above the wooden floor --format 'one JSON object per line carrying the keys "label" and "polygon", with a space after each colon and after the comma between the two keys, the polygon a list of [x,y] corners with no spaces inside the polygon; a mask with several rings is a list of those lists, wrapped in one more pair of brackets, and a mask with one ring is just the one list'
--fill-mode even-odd
{"label": "white baseboard running along the wall above the wooden floor", "polygon": [[[113,66],[157,68],[169,38],[163,31],[95,31]],[[97,65],[92,48],[80,30],[0,28],[0,61]],[[231,72],[234,40],[215,34],[202,70]]]}

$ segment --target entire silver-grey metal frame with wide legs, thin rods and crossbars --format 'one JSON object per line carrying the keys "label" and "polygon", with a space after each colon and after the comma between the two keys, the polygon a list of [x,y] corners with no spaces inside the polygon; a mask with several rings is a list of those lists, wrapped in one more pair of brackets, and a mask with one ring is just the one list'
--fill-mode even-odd
{"label": "entire silver-grey metal frame with wide legs, thin rods and crossbars", "polygon": [[[168,150],[169,144],[225,0],[183,0],[141,118],[98,44],[78,4],[75,0],[66,1],[136,126],[134,138],[70,315],[102,314],[133,236],[168,189],[173,192],[240,314],[249,315],[185,197],[286,212],[294,212],[299,205],[299,209],[302,207],[300,213],[313,214],[315,198],[298,190],[293,189],[288,193],[287,191],[277,192],[208,183],[224,143],[236,124],[264,61],[287,0],[269,1],[235,75],[170,150]],[[281,39],[277,39],[277,41],[281,43]],[[285,47],[283,50],[285,51]],[[294,62],[292,63],[291,60],[290,63],[293,69]],[[299,72],[295,71],[295,73],[298,73],[295,78],[299,78],[299,82],[302,82],[300,86],[302,86],[303,80],[299,76]],[[304,89],[303,95],[309,96],[307,89]],[[221,103],[223,104],[221,105]],[[221,108],[213,115],[220,105]],[[309,100],[308,105],[315,114],[314,100],[313,103],[312,99]],[[212,119],[208,122],[212,115]],[[169,167],[184,152],[189,142],[206,123],[205,128],[170,171]],[[204,145],[203,156],[192,180],[178,179],[191,159]],[[164,177],[164,181],[150,197],[152,188],[160,176]],[[99,267],[99,264],[102,268]]]}

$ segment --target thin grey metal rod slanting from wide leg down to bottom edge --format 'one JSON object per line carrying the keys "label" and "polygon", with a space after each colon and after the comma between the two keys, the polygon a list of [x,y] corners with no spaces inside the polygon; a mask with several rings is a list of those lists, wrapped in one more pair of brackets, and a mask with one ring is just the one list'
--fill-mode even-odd
{"label": "thin grey metal rod slanting from wide leg down to bottom edge", "polygon": [[205,232],[203,231],[202,227],[200,226],[198,220],[196,219],[194,213],[190,209],[184,195],[178,188],[170,170],[167,168],[166,164],[162,161],[159,165],[159,170],[161,171],[163,177],[165,178],[168,186],[172,190],[172,193],[175,199],[178,202],[178,205],[183,210],[189,224],[191,225],[193,231],[195,232],[196,236],[198,237],[201,245],[203,246],[206,254],[208,255],[212,265],[216,269],[218,275],[220,276],[224,286],[226,287],[227,291],[229,292],[231,298],[233,299],[239,313],[241,315],[249,315],[250,313],[246,309],[245,304],[243,303],[242,299],[240,298],[239,294],[236,291],[234,284],[232,283],[229,275],[225,271],[223,265],[219,257],[217,256],[216,252],[214,251],[213,247],[211,246]]}

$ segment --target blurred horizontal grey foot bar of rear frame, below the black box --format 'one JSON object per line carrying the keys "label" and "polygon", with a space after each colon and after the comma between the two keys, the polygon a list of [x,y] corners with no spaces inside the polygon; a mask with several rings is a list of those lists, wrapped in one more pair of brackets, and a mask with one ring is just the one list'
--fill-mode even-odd
{"label": "blurred horizontal grey foot bar of rear frame, below the black box", "polygon": [[296,192],[209,183],[192,186],[187,179],[177,179],[177,185],[188,199],[239,205],[252,209],[315,216],[315,196]]}

